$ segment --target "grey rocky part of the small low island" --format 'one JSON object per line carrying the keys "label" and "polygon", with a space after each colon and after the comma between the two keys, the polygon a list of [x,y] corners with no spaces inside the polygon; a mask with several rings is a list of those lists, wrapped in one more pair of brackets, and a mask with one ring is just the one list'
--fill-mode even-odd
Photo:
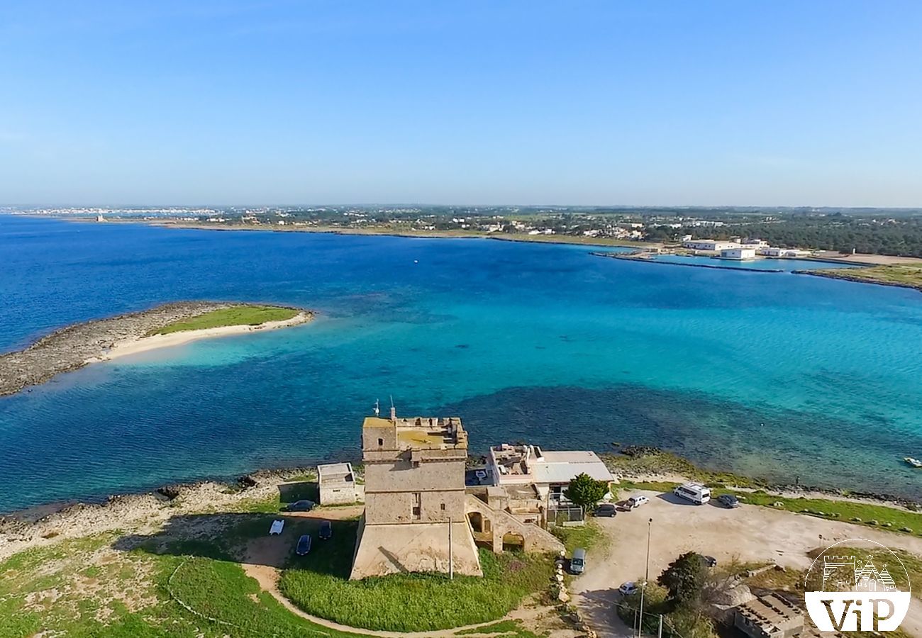
{"label": "grey rocky part of the small low island", "polygon": [[[244,305],[249,304],[177,301],[139,313],[68,325],[41,337],[26,349],[0,354],[0,396],[16,394],[32,385],[43,384],[62,372],[72,372],[94,360],[104,360],[106,353],[116,345],[136,341],[165,325]],[[310,313],[307,315],[310,318]]]}

